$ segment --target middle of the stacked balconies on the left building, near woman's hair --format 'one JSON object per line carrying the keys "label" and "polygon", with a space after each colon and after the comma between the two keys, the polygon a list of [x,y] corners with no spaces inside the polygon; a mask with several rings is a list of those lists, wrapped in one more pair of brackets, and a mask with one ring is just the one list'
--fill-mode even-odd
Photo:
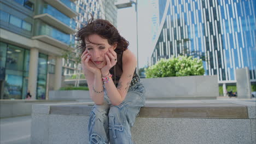
{"label": "middle of the stacked balconies on the left building, near woman's hair", "polygon": [[75,29],[67,26],[65,23],[61,22],[60,20],[56,19],[55,17],[53,17],[49,14],[36,15],[36,16],[34,16],[34,19],[40,19],[46,23],[49,23],[51,26],[54,26],[68,34],[73,34],[76,32]]}

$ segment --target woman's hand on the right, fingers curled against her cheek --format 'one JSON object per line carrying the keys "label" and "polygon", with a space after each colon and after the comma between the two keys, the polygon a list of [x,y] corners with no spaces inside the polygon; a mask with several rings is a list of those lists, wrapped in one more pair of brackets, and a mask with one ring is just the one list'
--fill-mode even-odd
{"label": "woman's hand on the right, fingers curled against her cheek", "polygon": [[105,58],[107,64],[101,69],[102,75],[107,75],[109,73],[109,69],[117,63],[117,53],[112,48],[110,48],[105,53]]}

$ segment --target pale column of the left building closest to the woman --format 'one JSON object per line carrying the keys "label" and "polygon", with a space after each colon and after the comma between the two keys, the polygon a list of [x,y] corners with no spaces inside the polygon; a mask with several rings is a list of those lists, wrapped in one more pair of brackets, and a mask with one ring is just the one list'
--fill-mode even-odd
{"label": "pale column of the left building closest to the woman", "polygon": [[55,59],[55,79],[54,79],[54,90],[59,90],[61,87],[61,74],[62,74],[62,58],[57,57]]}

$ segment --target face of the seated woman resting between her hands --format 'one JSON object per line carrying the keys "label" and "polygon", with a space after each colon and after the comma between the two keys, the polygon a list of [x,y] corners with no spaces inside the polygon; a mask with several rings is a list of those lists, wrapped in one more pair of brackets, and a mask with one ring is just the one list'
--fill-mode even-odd
{"label": "face of the seated woman resting between her hands", "polygon": [[89,35],[88,39],[85,38],[85,44],[89,55],[91,55],[91,61],[101,69],[107,64],[105,53],[109,49],[113,49],[114,46],[109,45],[107,39],[103,39],[97,34]]}

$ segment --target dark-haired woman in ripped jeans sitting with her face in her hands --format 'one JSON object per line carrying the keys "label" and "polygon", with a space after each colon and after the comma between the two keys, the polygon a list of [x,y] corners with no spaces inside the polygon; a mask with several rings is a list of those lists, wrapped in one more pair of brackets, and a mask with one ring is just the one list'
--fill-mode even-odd
{"label": "dark-haired woman in ripped jeans sitting with her face in her hands", "polygon": [[90,114],[90,143],[132,143],[130,128],[145,104],[129,43],[110,22],[91,19],[75,35],[82,67],[95,105]]}

